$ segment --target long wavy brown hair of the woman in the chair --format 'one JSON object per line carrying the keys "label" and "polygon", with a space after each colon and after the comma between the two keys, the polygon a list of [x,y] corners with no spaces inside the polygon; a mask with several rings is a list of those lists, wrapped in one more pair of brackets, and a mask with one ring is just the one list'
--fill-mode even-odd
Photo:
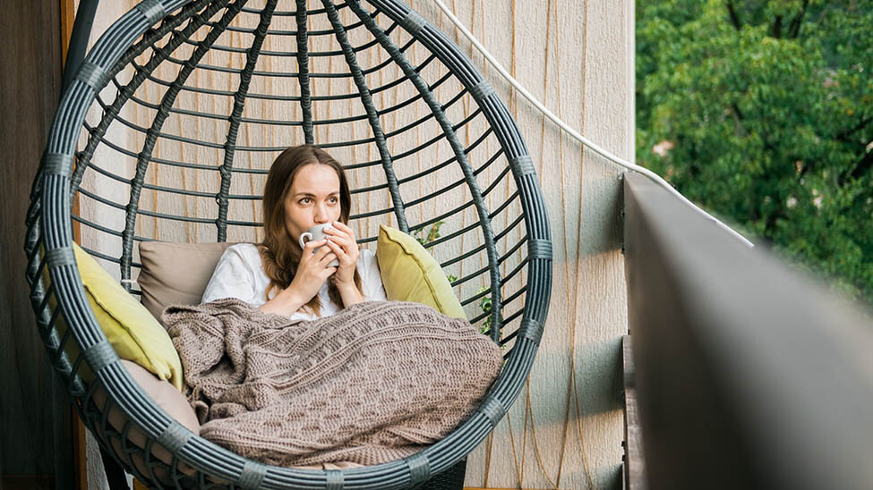
{"label": "long wavy brown hair of the woman in the chair", "polygon": [[[352,194],[348,189],[348,181],[343,166],[321,148],[312,145],[300,145],[287,148],[270,166],[267,183],[264,186],[263,216],[264,241],[259,245],[261,262],[264,272],[270,278],[270,285],[265,292],[266,300],[270,300],[270,292],[283,290],[294,279],[303,249],[297,241],[288,234],[285,225],[285,199],[297,172],[305,165],[328,165],[339,177],[339,220],[348,223],[351,215]],[[342,296],[339,294],[333,278],[328,280],[328,295],[330,300],[343,308]],[[355,287],[361,290],[361,275],[355,267]],[[304,305],[316,316],[321,315],[321,300],[316,294]]]}

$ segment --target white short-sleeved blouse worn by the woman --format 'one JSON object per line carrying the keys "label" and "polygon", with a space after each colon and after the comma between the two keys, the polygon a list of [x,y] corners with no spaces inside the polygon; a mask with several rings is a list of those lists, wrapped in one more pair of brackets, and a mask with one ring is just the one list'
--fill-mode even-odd
{"label": "white short-sleeved blouse worn by the woman", "polygon": [[[357,271],[361,275],[361,289],[364,290],[365,301],[388,300],[379,275],[379,265],[376,263],[376,256],[372,251],[361,249],[357,258]],[[253,243],[237,243],[228,247],[218,259],[218,265],[215,266],[215,272],[212,273],[206,291],[203,291],[201,302],[208,303],[222,298],[237,298],[257,308],[267,302],[264,293],[269,285],[270,277],[264,272],[258,248]],[[277,293],[278,291],[272,291],[270,299]],[[330,300],[327,281],[321,285],[318,296],[321,300],[320,317],[329,317],[339,311],[339,306]],[[314,320],[319,317],[301,308],[290,318],[292,320]]]}

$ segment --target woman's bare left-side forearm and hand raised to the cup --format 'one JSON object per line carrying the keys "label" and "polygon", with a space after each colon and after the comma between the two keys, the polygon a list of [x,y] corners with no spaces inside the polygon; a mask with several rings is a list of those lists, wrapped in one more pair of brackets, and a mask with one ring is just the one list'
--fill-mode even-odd
{"label": "woman's bare left-side forearm and hand raised to the cup", "polygon": [[[306,242],[294,279],[287,288],[261,305],[261,311],[291,316],[318,294],[330,275],[337,272],[337,267],[328,266],[337,256],[325,246],[326,243],[326,240]],[[319,247],[321,249],[315,250]]]}

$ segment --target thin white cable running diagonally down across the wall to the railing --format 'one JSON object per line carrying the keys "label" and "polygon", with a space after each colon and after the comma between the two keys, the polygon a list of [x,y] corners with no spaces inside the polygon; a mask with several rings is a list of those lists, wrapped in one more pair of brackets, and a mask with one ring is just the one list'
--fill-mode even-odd
{"label": "thin white cable running diagonally down across the wall to the railing", "polygon": [[612,153],[610,153],[609,151],[606,151],[605,149],[600,148],[600,146],[595,144],[594,141],[587,139],[586,137],[582,136],[578,131],[569,127],[569,125],[566,122],[561,121],[561,119],[557,115],[553,114],[552,111],[550,111],[548,107],[543,106],[543,104],[539,100],[537,100],[536,97],[534,97],[530,92],[528,92],[527,89],[522,87],[522,85],[520,83],[518,83],[518,80],[513,78],[512,75],[510,75],[509,72],[507,72],[506,69],[503,68],[503,66],[501,65],[500,62],[498,62],[496,59],[494,59],[494,57],[491,55],[491,53],[489,53],[488,50],[485,49],[485,46],[482,46],[482,43],[480,43],[479,40],[476,39],[469,30],[466,30],[466,27],[464,26],[464,24],[462,24],[461,21],[458,21],[458,18],[455,17],[455,14],[449,10],[449,7],[447,7],[445,4],[443,4],[441,0],[433,0],[433,3],[437,4],[437,6],[440,7],[440,10],[442,11],[442,13],[445,13],[446,16],[449,17],[449,21],[451,21],[453,24],[455,24],[455,27],[457,27],[458,30],[460,30],[461,33],[464,34],[464,37],[469,39],[469,41],[473,44],[473,46],[475,46],[475,48],[480,53],[482,53],[482,55],[485,57],[485,60],[487,60],[488,63],[491,63],[492,66],[498,72],[500,72],[500,74],[503,76],[503,78],[505,78],[506,80],[509,81],[509,84],[512,85],[512,87],[514,87],[516,90],[518,90],[518,92],[522,96],[524,96],[531,104],[533,104],[537,109],[539,109],[540,112],[545,114],[545,116],[548,117],[552,122],[557,124],[559,128],[561,128],[562,130],[567,132],[567,134],[569,134],[574,139],[577,139],[580,143],[585,145],[587,148],[590,148],[595,153],[605,157],[607,160],[610,160],[612,163],[617,164],[617,165],[621,165],[621,166],[623,166],[629,170],[632,170],[634,172],[638,172],[638,173],[642,173],[643,175],[646,175],[646,177],[648,177],[649,179],[651,179],[652,181],[654,181],[658,185],[662,186],[664,189],[670,191],[670,193],[672,193],[672,195],[674,195],[678,199],[680,199],[680,201],[689,205],[698,214],[703,215],[707,220],[712,221],[717,226],[722,228],[724,231],[729,232],[730,234],[732,234],[733,236],[738,238],[740,241],[742,241],[746,245],[749,245],[749,247],[754,246],[754,245],[752,245],[751,241],[746,239],[746,237],[740,235],[740,233],[738,233],[738,232],[735,232],[730,226],[728,226],[727,224],[723,224],[721,221],[715,219],[715,217],[713,215],[706,213],[706,211],[704,211],[703,209],[700,209],[696,204],[689,201],[688,198],[683,196],[678,190],[675,190],[672,187],[672,185],[670,185],[669,183],[664,181],[663,178],[661,178],[661,176],[658,175],[657,173],[654,173],[645,167],[642,167],[642,166],[639,166],[636,164],[632,164],[629,161],[624,160],[623,158],[621,158],[619,156],[612,155]]}

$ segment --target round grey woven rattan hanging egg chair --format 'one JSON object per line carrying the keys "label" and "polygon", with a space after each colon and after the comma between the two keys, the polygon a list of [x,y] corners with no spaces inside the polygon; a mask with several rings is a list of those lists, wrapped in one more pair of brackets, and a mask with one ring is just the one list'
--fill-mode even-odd
{"label": "round grey woven rattan hanging egg chair", "polygon": [[[362,244],[380,223],[423,238],[441,225],[426,246],[505,352],[472,418],[406,460],[278,468],[193,435],[122,367],[78,275],[74,232],[133,294],[139,241],[257,241],[270,162],[303,142],[346,163]],[[27,224],[52,366],[102,450],[152,487],[409,488],[452,467],[462,478],[525,382],[551,294],[549,224],[516,123],[458,46],[395,0],[137,5],[64,92]],[[155,458],[158,446],[172,458]]]}

